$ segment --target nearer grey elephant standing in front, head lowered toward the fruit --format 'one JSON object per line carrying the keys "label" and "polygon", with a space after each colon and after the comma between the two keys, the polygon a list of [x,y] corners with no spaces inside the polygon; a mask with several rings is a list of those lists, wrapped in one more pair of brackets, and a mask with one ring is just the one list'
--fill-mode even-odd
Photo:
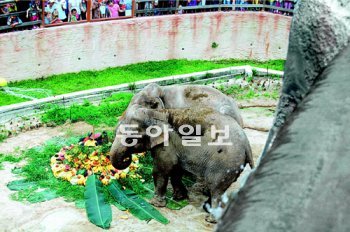
{"label": "nearer grey elephant standing in front, head lowered toward the fruit", "polygon": [[[135,131],[139,138],[131,138],[124,131],[129,125],[137,125]],[[183,125],[196,130],[185,130]],[[153,137],[147,128],[155,126],[162,131]],[[224,130],[225,126],[227,139],[221,141],[219,132],[215,130]],[[197,141],[199,146],[183,144],[185,132],[196,135],[201,140]],[[222,205],[221,195],[236,181],[246,164],[254,167],[250,144],[241,126],[230,116],[212,108],[149,109],[132,104],[117,127],[110,151],[112,165],[125,169],[131,163],[131,154],[146,150],[150,150],[153,157],[155,196],[151,203],[158,207],[166,204],[169,178],[174,190],[173,198],[187,198],[187,190],[181,181],[184,171],[187,171],[203,179],[208,187],[210,197],[206,209],[217,208]]]}

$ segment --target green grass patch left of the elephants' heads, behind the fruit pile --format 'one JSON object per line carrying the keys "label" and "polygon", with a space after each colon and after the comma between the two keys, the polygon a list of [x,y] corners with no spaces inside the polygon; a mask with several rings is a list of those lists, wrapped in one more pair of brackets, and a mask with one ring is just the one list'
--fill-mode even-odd
{"label": "green grass patch left of the elephants' heads, behind the fruit pile", "polygon": [[99,106],[85,102],[83,105],[72,105],[67,108],[50,105],[42,115],[44,123],[60,125],[67,120],[71,122],[85,121],[91,125],[116,125],[116,117],[120,116],[128,107],[132,98],[131,93],[117,93],[104,99]]}

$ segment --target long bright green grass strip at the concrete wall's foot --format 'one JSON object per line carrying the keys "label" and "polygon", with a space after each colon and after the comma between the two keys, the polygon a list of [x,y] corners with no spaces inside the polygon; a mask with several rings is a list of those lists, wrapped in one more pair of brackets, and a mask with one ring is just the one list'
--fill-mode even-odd
{"label": "long bright green grass strip at the concrete wall's foot", "polygon": [[[249,60],[168,60],[107,68],[100,71],[82,71],[53,75],[37,80],[13,82],[9,87],[40,88],[51,91],[53,95],[71,93],[80,90],[112,86],[122,83],[133,83],[140,80],[153,79],[171,75],[207,71],[229,66],[253,65],[275,70],[283,70],[284,60],[257,62]],[[0,90],[0,106],[10,105],[26,99],[5,94]]]}

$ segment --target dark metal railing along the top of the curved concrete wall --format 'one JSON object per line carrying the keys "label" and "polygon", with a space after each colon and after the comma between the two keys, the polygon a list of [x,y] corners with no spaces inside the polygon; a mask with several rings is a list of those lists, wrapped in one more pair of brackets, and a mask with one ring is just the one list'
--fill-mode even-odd
{"label": "dark metal railing along the top of the curved concrete wall", "polygon": [[[32,0],[34,2],[35,0]],[[36,0],[40,1],[40,0]],[[50,0],[52,1],[52,0]],[[57,1],[57,0],[56,0]],[[70,0],[65,0],[70,1]],[[75,0],[76,1],[76,0]],[[80,0],[81,1],[81,0]],[[118,17],[110,17],[110,12],[108,9],[109,7],[113,7],[114,3],[109,5],[109,2],[119,2],[119,7],[116,7],[115,9],[119,9],[119,14],[125,14],[126,16],[118,16]],[[242,0],[240,0],[242,1]],[[203,3],[203,0],[196,0],[196,5],[189,5],[191,0],[189,1],[180,1],[180,0],[87,0],[86,1],[86,19],[85,20],[78,20],[77,22],[61,22],[60,20],[58,23],[47,23],[47,11],[48,11],[48,1],[42,1],[40,2],[40,17],[36,21],[30,21],[26,17],[23,17],[27,14],[27,10],[29,8],[29,4],[31,1],[29,0],[0,0],[0,33],[3,32],[9,32],[9,31],[16,31],[16,30],[23,30],[23,29],[33,29],[36,28],[36,26],[40,27],[52,27],[52,26],[62,26],[72,23],[89,23],[89,22],[95,22],[95,21],[105,21],[105,20],[120,20],[120,19],[128,19],[133,17],[147,17],[147,16],[158,16],[158,15],[169,15],[169,14],[187,14],[187,13],[202,13],[202,12],[208,12],[208,11],[263,11],[263,12],[271,12],[271,13],[277,13],[277,14],[285,14],[285,15],[293,15],[293,5],[289,5],[289,8],[284,8],[276,5],[269,5],[266,4],[267,0],[259,1],[259,4],[235,4],[237,1],[233,0],[230,1],[230,3],[233,4],[227,4],[224,0],[217,0],[217,1],[210,1],[206,0],[205,5],[197,3]],[[193,2],[193,0],[192,0]],[[246,3],[248,1],[245,1]],[[277,1],[275,1],[277,2]],[[280,1],[278,1],[280,2]],[[287,1],[281,1],[282,6],[284,2]],[[293,1],[288,1],[290,3],[293,3]],[[8,4],[17,4],[19,5],[21,3],[21,6],[18,6],[17,11],[15,12],[8,12],[7,14],[2,14],[2,9],[5,6],[8,6]],[[107,5],[108,3],[108,5]],[[226,4],[224,4],[226,3]],[[54,4],[58,4],[55,2]],[[60,3],[61,4],[61,3]],[[116,3],[117,4],[117,3]],[[120,10],[120,6],[123,6],[122,4],[127,5],[129,8],[123,10]],[[27,8],[25,7],[27,5]],[[61,5],[62,6],[62,5]],[[68,7],[67,7],[68,6]],[[97,8],[96,8],[97,6]],[[71,17],[71,8],[68,4],[66,4],[65,13],[67,17]],[[101,8],[107,9],[105,12],[107,15],[103,18],[99,17]],[[42,9],[45,9],[44,11]],[[73,9],[73,8],[72,8]],[[99,12],[96,12],[99,11]],[[98,13],[98,14],[96,14]],[[96,17],[97,15],[97,17]],[[103,15],[104,16],[104,15]],[[17,24],[15,26],[7,25],[7,20],[9,17],[19,17],[23,23]],[[46,22],[46,23],[45,23]]]}

